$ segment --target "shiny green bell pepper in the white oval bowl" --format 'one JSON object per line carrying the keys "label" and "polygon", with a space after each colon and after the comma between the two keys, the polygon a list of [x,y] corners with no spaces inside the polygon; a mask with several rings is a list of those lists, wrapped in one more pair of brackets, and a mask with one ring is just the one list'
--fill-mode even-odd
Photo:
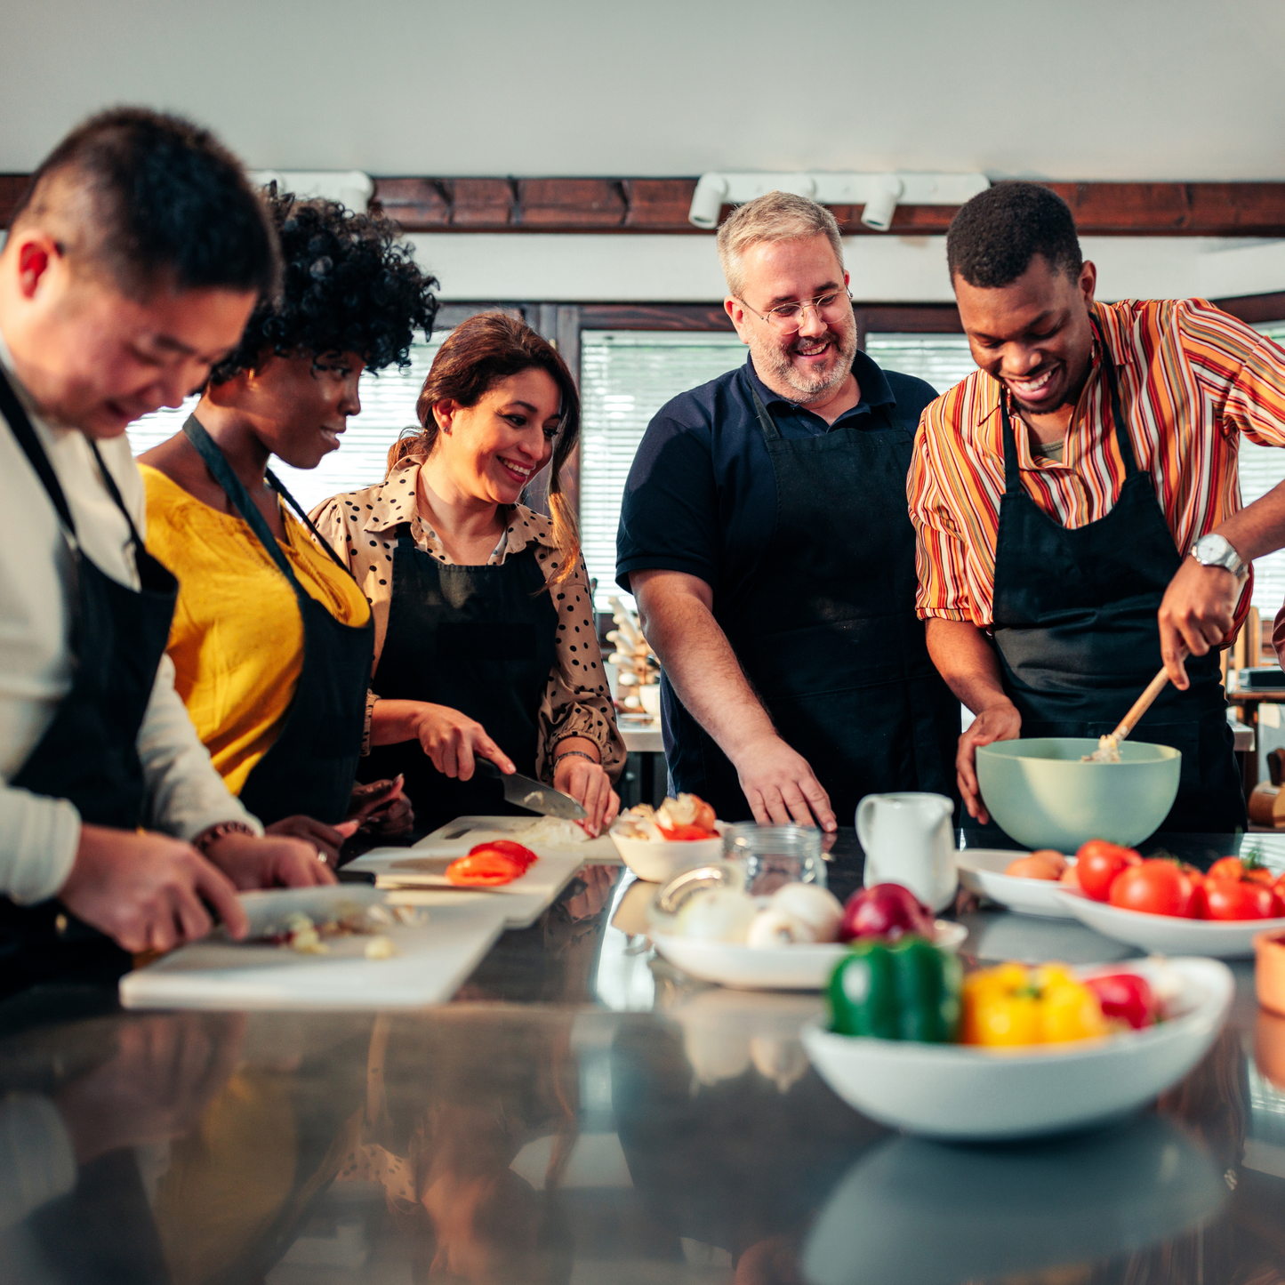
{"label": "shiny green bell pepper in the white oval bowl", "polygon": [[830,977],[830,1029],[950,1043],[959,1031],[962,971],[953,955],[908,933],[896,942],[858,941]]}

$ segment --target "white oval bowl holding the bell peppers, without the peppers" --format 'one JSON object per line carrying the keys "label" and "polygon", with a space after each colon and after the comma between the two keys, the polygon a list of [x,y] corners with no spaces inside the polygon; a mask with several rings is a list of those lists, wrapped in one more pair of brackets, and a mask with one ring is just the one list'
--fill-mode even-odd
{"label": "white oval bowl holding the bell peppers, without the peppers", "polygon": [[891,1128],[956,1141],[1064,1133],[1137,1110],[1180,1081],[1231,1007],[1231,971],[1216,960],[1137,960],[1079,971],[1122,970],[1155,979],[1176,974],[1174,1015],[1145,1031],[1029,1051],[839,1036],[811,1023],[803,1047],[835,1094]]}

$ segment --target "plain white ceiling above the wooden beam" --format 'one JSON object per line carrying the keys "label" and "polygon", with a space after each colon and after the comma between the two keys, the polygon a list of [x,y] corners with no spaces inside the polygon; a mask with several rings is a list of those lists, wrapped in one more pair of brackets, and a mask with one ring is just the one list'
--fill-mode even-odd
{"label": "plain white ceiling above the wooden beam", "polygon": [[251,166],[1285,177],[1277,0],[40,0],[0,170],[113,103]]}

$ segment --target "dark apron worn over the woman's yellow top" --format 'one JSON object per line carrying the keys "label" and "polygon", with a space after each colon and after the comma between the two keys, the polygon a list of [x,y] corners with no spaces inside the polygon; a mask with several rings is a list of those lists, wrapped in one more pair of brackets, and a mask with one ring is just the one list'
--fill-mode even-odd
{"label": "dark apron worn over the woman's yellow top", "polygon": [[[342,821],[352,799],[366,721],[366,691],[374,659],[373,619],[352,626],[337,621],[299,583],[263,515],[209,434],[193,415],[182,425],[188,441],[227,499],[258,536],[278,569],[289,581],[303,618],[303,667],[285,722],[271,749],[254,765],[240,801],[265,825],[287,816],[311,816],[326,825]],[[316,536],[346,576],[352,573],[312,526],[294,497],[272,475],[269,484]]]}

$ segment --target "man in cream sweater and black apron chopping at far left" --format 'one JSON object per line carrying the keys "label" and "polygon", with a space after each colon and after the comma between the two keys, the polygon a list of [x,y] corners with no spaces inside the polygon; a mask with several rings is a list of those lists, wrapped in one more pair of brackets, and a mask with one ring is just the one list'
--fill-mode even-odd
{"label": "man in cream sweater and black apron chopping at far left", "polygon": [[[177,406],[275,289],[239,162],[185,121],[98,116],[36,171],[0,252],[0,995],[114,982],[127,952],[244,935],[236,888],[332,882],[224,788],[164,657],[125,427]],[[140,829],[146,828],[146,829]],[[161,831],[161,833],[155,833]]]}

